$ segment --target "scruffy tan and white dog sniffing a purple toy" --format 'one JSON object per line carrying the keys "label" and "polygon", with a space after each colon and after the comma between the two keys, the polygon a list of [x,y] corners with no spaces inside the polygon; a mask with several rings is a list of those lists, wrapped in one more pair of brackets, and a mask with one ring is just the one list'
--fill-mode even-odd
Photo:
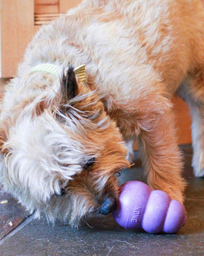
{"label": "scruffy tan and white dog sniffing a purple toy", "polygon": [[[85,85],[74,70],[82,64]],[[194,173],[203,176],[203,2],[83,1],[37,32],[5,87],[1,183],[36,216],[78,226],[114,209],[125,142],[138,139],[149,185],[183,202],[176,91],[192,111]]]}

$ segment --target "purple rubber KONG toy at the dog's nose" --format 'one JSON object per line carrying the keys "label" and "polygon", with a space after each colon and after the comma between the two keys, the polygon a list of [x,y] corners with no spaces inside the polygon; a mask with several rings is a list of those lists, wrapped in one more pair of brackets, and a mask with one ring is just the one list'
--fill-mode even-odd
{"label": "purple rubber KONG toy at the dog's nose", "polygon": [[140,181],[129,181],[121,186],[113,217],[124,228],[143,228],[149,233],[175,233],[187,219],[183,204]]}

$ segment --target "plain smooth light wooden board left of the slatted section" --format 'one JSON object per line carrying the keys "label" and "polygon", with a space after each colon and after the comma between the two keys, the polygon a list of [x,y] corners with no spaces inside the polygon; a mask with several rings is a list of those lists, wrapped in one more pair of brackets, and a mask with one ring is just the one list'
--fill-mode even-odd
{"label": "plain smooth light wooden board left of the slatted section", "polygon": [[17,63],[34,32],[33,0],[1,0],[1,73],[16,75]]}

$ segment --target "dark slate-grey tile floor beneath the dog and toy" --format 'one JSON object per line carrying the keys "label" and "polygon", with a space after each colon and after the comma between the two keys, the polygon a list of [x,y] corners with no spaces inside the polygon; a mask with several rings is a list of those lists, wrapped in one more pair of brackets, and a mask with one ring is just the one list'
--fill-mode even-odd
{"label": "dark slate-grey tile floor beneath the dog and toy", "polygon": [[[4,194],[0,201],[3,199],[8,202],[0,204],[0,230],[3,237],[0,241],[0,256],[203,256],[204,179],[193,176],[191,145],[182,146],[182,150],[185,156],[184,175],[188,181],[185,201],[188,220],[176,234],[125,230],[114,222],[110,214],[103,221],[96,219],[89,223],[93,228],[84,226],[73,230],[60,222],[52,226],[48,225],[44,215],[40,221],[28,217],[28,213],[15,200]],[[135,159],[135,166],[131,170],[124,170],[119,177],[120,183],[128,180],[145,181],[138,152],[135,152]],[[13,231],[8,227],[10,221],[14,223]]]}

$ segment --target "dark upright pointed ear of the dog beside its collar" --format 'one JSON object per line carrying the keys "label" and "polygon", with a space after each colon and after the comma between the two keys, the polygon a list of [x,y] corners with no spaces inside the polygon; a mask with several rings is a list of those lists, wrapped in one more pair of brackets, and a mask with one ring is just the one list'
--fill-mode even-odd
{"label": "dark upright pointed ear of the dog beside its collar", "polygon": [[78,94],[78,84],[75,78],[74,68],[69,66],[63,76],[64,97],[65,100],[71,100]]}

